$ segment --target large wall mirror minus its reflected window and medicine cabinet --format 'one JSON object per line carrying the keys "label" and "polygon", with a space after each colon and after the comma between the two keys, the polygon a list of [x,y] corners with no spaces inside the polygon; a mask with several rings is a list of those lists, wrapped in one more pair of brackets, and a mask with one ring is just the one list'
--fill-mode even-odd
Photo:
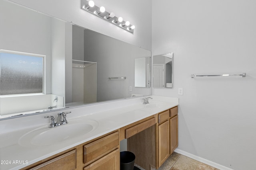
{"label": "large wall mirror minus its reflected window and medicine cabinet", "polygon": [[0,95],[0,118],[151,94],[134,86],[134,60],[148,50],[8,0],[0,24],[0,50],[44,56],[44,92]]}

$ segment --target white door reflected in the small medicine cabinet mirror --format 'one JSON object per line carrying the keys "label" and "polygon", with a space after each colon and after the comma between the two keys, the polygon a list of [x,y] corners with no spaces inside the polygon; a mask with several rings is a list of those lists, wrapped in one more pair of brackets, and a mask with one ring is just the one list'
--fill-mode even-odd
{"label": "white door reflected in the small medicine cabinet mirror", "polygon": [[164,64],[153,65],[154,87],[164,87]]}

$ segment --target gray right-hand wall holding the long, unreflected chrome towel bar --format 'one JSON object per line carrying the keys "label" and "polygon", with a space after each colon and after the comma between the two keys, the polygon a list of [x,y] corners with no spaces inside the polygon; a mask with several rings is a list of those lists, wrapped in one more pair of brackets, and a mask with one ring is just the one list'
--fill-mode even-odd
{"label": "gray right-hand wall holding the long, unreflected chrome towel bar", "polygon": [[[178,149],[234,170],[256,169],[255,6],[252,0],[152,1],[152,53],[174,53],[174,88],[153,94],[179,98]],[[246,78],[190,78],[242,72]]]}

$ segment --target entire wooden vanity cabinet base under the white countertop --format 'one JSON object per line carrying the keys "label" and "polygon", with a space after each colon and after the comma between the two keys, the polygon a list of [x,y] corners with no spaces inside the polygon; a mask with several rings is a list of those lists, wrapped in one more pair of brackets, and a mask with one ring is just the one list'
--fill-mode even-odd
{"label": "entire wooden vanity cabinet base under the white countertop", "polygon": [[178,107],[126,125],[116,131],[50,156],[22,170],[120,170],[120,141],[127,139],[135,163],[158,169],[178,147]]}

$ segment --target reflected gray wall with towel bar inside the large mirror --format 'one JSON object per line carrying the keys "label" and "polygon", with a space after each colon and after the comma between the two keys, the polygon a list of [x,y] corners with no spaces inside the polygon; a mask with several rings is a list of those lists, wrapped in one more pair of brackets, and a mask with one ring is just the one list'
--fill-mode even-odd
{"label": "reflected gray wall with towel bar inside the large mirror", "polygon": [[[87,29],[84,35],[85,60],[97,62],[98,102],[151,93],[150,88],[134,88],[134,59],[149,57],[150,51]],[[126,76],[126,80],[108,79],[115,76]]]}

